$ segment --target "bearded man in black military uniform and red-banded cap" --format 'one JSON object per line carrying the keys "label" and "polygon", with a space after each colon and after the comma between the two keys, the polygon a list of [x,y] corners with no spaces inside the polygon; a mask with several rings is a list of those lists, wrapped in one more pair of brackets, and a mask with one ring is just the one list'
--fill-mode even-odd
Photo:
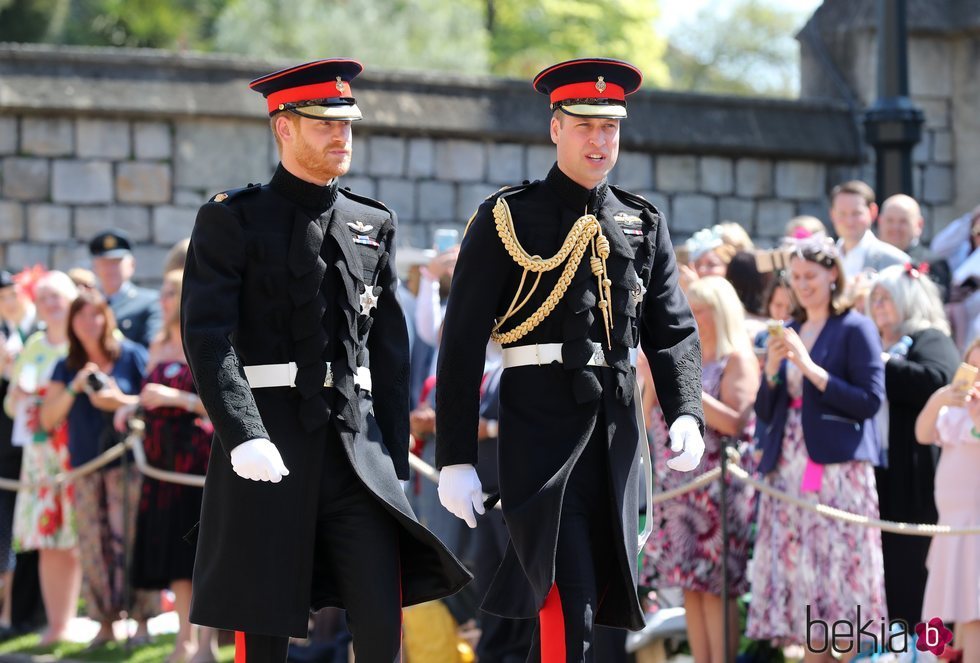
{"label": "bearded man in black military uniform and red-banded cap", "polygon": [[309,610],[328,605],[346,608],[358,661],[390,663],[401,607],[470,579],[399,483],[409,402],[395,216],[338,186],[360,71],[321,60],[251,83],[281,163],[269,184],[205,204],[187,255],[183,339],[217,442],[191,621],[238,632],[247,663],[284,661]]}

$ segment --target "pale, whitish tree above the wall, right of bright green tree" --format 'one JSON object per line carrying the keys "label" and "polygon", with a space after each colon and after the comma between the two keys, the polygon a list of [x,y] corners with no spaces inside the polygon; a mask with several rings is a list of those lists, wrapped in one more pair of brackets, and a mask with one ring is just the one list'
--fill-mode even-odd
{"label": "pale, whitish tree above the wall, right of bright green tree", "polygon": [[795,96],[804,16],[770,0],[717,0],[669,35],[666,63],[676,90]]}

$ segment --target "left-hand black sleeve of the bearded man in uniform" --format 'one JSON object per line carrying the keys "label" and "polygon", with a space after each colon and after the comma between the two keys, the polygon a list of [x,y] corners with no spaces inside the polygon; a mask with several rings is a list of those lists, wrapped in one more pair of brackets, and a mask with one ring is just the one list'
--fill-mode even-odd
{"label": "left-hand black sleeve of the bearded man in uniform", "polygon": [[184,267],[181,329],[197,393],[225,453],[268,439],[241,361],[232,346],[245,269],[245,240],[235,213],[208,203],[197,214]]}

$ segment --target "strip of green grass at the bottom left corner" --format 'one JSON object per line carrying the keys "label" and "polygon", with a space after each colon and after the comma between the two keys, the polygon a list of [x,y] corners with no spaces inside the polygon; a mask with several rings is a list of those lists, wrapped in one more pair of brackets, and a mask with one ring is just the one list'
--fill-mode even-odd
{"label": "strip of green grass at the bottom left corner", "polygon": [[[62,642],[57,645],[41,647],[41,636],[37,633],[22,635],[0,643],[0,659],[5,654],[19,656],[42,656],[45,660],[71,659],[73,661],[98,661],[98,663],[162,663],[173,651],[174,634],[158,635],[151,644],[126,649],[125,642],[114,642],[98,649],[86,651],[86,645],[75,642]],[[218,661],[231,663],[235,660],[235,646],[228,645],[218,650]]]}

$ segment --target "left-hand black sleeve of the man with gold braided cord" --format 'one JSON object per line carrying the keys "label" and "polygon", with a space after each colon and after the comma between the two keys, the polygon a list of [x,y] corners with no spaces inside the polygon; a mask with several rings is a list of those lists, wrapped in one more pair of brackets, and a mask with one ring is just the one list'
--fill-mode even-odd
{"label": "left-hand black sleeve of the man with gold braided cord", "polygon": [[513,265],[484,202],[463,236],[443,320],[436,378],[436,466],[476,465],[487,341]]}

